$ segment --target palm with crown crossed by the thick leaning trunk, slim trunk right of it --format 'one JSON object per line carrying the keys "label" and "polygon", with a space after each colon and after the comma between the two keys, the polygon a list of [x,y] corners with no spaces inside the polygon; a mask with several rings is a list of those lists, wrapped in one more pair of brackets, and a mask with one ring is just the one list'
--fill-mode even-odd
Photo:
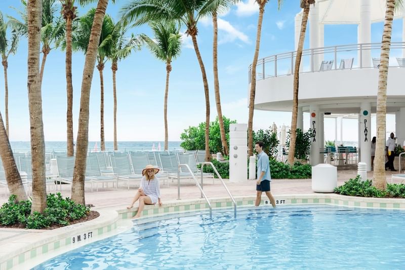
{"label": "palm with crown crossed by the thick leaning trunk, slim trunk right of it", "polygon": [[[73,34],[73,50],[82,50],[85,53],[88,49],[92,24],[96,10],[91,9],[85,16],[79,19],[79,27]],[[103,19],[101,36],[97,49],[97,69],[100,74],[100,139],[101,150],[105,150],[104,140],[104,65],[107,57],[112,55],[113,41],[116,39],[118,32],[115,31],[112,18],[106,15]]]}

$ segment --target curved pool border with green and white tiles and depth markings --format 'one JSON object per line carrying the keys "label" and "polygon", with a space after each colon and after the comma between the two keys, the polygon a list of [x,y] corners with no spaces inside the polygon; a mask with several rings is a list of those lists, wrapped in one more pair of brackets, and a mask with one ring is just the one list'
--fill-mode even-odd
{"label": "curved pool border with green and white tiles and depth markings", "polygon": [[[308,195],[275,195],[278,206],[282,205],[334,205],[343,207],[382,208],[405,210],[405,199],[377,199],[340,196],[336,194],[308,194]],[[252,207],[255,197],[235,197],[237,207]],[[265,196],[262,197],[261,205],[271,207]],[[232,209],[233,203],[229,198],[210,199],[213,210]],[[199,200],[173,200],[168,201],[163,207],[146,206],[142,216],[165,216],[176,213],[208,211],[209,206],[204,199]],[[46,261],[54,256],[76,249],[78,247],[116,235],[132,226],[133,217],[137,208],[128,211],[126,209],[98,210],[100,217],[84,223],[74,224],[55,230],[47,231],[41,236],[38,234],[28,236],[24,240],[13,241],[8,246],[7,253],[0,253],[0,270],[6,269],[29,269],[34,265]],[[89,239],[88,234],[92,233]],[[84,240],[84,234],[87,239]],[[77,236],[80,235],[80,243]],[[73,242],[75,237],[75,243]]]}

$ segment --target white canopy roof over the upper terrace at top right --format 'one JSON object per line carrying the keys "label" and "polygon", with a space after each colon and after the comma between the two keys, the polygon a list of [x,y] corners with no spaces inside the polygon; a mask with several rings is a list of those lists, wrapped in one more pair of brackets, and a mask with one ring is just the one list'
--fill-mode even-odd
{"label": "white canopy roof over the upper terrace at top right", "polygon": [[[385,18],[386,0],[371,0],[371,22],[381,22]],[[319,20],[323,24],[360,23],[360,0],[318,0]],[[398,9],[394,19],[402,18],[403,11]]]}

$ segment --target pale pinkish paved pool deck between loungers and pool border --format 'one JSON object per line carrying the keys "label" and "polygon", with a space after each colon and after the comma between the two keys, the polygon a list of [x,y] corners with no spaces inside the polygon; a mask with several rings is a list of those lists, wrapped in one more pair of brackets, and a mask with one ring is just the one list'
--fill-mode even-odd
{"label": "pale pinkish paved pool deck between loungers and pool border", "polygon": [[[391,174],[394,172],[387,171],[387,181],[391,182]],[[338,170],[338,185],[343,184],[350,178],[356,176],[356,171],[354,170]],[[368,173],[368,177],[372,178],[373,172]],[[255,180],[247,180],[244,182],[230,182],[229,180],[224,180],[228,189],[233,196],[255,196],[256,195],[256,185]],[[398,181],[397,181],[398,182]],[[227,198],[227,192],[222,186],[218,179],[205,179],[204,180],[204,191],[208,198]],[[51,190],[48,192],[55,192]],[[70,185],[62,185],[63,196],[70,197]],[[123,210],[125,209],[132,200],[136,192],[136,187],[134,185],[130,186],[128,190],[127,186],[119,186],[118,189],[113,188],[109,184],[108,188],[99,188],[99,191],[90,191],[89,187],[86,187],[86,204],[92,204],[93,210]],[[311,179],[273,179],[271,182],[271,192],[277,197],[281,194],[313,194],[311,189]],[[163,181],[160,180],[160,193],[162,202],[178,202],[178,189],[177,182],[170,182],[170,186],[163,185]],[[200,191],[192,182],[192,180],[182,179],[180,187],[181,199],[199,199]],[[263,195],[265,196],[265,195]],[[5,195],[4,188],[0,188],[0,204],[7,201],[7,196]],[[135,204],[137,206],[137,203]],[[47,230],[28,230],[28,229],[10,229],[10,228],[0,228],[0,247],[11,247],[14,241],[18,241],[27,236],[27,234],[43,234],[49,232]],[[1,248],[0,255],[5,253],[6,250]]]}

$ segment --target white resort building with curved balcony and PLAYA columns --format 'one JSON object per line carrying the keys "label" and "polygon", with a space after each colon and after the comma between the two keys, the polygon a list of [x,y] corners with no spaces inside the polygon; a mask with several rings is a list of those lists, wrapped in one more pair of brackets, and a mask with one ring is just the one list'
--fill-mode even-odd
{"label": "white resort building with curved balcony and PLAYA columns", "polygon": [[[358,118],[359,161],[371,170],[371,114],[376,112],[378,67],[381,43],[371,43],[373,23],[383,22],[384,0],[318,0],[308,19],[309,49],[304,48],[299,88],[297,128],[303,129],[303,112],[309,112],[314,139],[310,163],[323,163],[326,117],[355,114]],[[387,113],[395,114],[398,144],[405,140],[405,11],[397,11],[394,20],[402,20],[402,42],[391,45]],[[298,46],[302,12],[295,17],[295,48]],[[324,46],[326,24],[356,24],[357,44]],[[255,109],[291,111],[293,72],[296,52],[285,52],[259,59]],[[249,72],[250,74],[250,72]],[[249,83],[250,83],[249,78]],[[337,131],[335,130],[335,133]],[[336,136],[337,137],[337,136]]]}

